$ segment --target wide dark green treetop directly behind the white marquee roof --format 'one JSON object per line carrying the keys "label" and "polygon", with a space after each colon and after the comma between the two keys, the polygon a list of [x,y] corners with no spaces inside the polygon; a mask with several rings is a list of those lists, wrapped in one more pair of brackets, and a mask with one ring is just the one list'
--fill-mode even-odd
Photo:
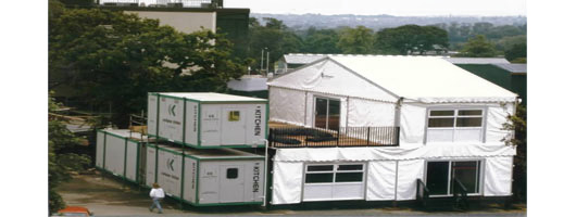
{"label": "wide dark green treetop directly behind the white marquee roof", "polygon": [[[436,46],[436,48],[435,48]],[[448,34],[436,26],[405,25],[376,33],[374,46],[384,54],[425,53],[448,47]]]}

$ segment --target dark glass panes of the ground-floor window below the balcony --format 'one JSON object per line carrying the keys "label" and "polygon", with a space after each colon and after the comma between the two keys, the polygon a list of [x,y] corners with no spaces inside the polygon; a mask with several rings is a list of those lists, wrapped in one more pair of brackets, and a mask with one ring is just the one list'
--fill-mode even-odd
{"label": "dark glass panes of the ground-floor window below the balcony", "polygon": [[363,164],[308,165],[305,183],[362,182]]}

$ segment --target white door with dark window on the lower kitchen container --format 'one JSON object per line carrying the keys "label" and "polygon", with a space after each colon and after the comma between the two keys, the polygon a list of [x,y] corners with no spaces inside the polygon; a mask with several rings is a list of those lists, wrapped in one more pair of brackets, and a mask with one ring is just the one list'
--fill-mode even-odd
{"label": "white door with dark window on the lower kitchen container", "polygon": [[220,202],[242,202],[245,197],[243,165],[220,166]]}

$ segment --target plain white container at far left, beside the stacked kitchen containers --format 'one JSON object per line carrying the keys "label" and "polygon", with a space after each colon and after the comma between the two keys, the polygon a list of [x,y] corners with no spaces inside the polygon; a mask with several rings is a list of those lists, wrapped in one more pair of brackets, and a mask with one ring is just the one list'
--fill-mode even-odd
{"label": "plain white container at far left, beside the stacked kitchen containers", "polygon": [[114,176],[138,183],[141,179],[140,159],[146,151],[148,138],[127,129],[103,129],[97,131],[96,167]]}

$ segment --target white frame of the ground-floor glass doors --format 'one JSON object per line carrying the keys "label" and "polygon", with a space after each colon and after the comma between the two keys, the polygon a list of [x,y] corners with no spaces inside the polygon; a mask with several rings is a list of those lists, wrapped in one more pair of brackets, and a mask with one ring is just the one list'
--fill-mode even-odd
{"label": "white frame of the ground-floor glass doors", "polygon": [[[485,178],[485,159],[483,158],[459,158],[459,159],[427,159],[424,162],[424,183],[427,183],[428,181],[428,163],[429,162],[448,162],[448,192],[450,192],[450,189],[452,188],[452,163],[453,162],[478,162],[478,166],[480,167],[480,171],[478,173],[478,176],[480,176],[478,179],[476,179],[478,182],[478,192],[477,193],[468,193],[468,196],[480,196],[484,195],[484,178]],[[446,196],[453,196],[453,193],[447,194],[435,194],[430,195],[430,197],[446,197]]]}

